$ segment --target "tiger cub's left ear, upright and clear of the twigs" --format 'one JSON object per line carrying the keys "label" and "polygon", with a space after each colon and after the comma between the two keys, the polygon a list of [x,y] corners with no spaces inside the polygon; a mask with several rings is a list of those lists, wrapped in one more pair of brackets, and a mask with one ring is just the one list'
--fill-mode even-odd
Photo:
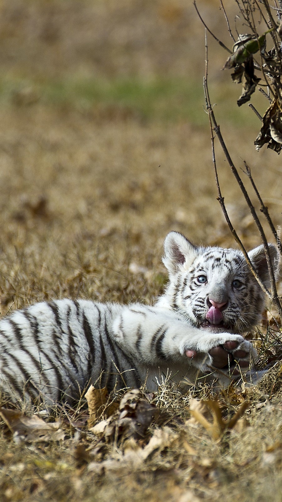
{"label": "tiger cub's left ear, upright and clear of the twigs", "polygon": [[171,274],[187,269],[198,255],[197,247],[179,232],[168,233],[164,249],[163,264]]}

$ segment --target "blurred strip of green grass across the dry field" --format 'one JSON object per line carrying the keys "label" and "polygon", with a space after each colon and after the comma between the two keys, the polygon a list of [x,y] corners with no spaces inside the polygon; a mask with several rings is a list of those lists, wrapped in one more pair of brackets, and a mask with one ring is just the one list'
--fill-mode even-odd
{"label": "blurred strip of green grass across the dry field", "polygon": [[[247,105],[237,107],[240,87],[231,82],[210,85],[217,118],[234,126],[257,128],[258,119]],[[258,94],[258,93],[257,93]],[[127,110],[146,120],[187,120],[195,126],[207,126],[202,83],[183,78],[100,80],[65,78],[61,80],[6,79],[0,81],[0,103],[65,105],[85,110]],[[263,112],[263,110],[262,110]]]}

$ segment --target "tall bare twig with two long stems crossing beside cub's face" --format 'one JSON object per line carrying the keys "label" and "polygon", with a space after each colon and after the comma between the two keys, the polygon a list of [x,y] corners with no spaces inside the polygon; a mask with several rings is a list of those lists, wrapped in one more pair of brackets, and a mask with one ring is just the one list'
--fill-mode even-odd
{"label": "tall bare twig with two long stems crossing beside cub's face", "polygon": [[[270,253],[269,253],[269,247],[268,247],[268,243],[267,243],[267,240],[266,240],[266,237],[265,237],[265,233],[263,231],[263,228],[261,226],[261,223],[257,217],[257,214],[255,212],[255,209],[254,209],[254,206],[249,198],[249,195],[244,187],[244,184],[239,176],[239,173],[237,171],[237,169],[235,168],[233,162],[232,162],[232,159],[230,157],[230,154],[226,148],[226,145],[224,143],[224,140],[222,138],[222,135],[221,135],[221,132],[220,132],[220,128],[218,126],[218,123],[216,122],[216,119],[215,119],[215,116],[214,116],[214,112],[213,112],[213,109],[212,109],[212,106],[211,106],[211,101],[210,101],[210,97],[209,97],[209,91],[208,91],[208,83],[207,83],[207,78],[208,78],[208,45],[207,45],[207,32],[205,31],[205,44],[206,44],[206,74],[205,74],[205,79],[204,79],[204,88],[205,88],[205,98],[206,98],[206,104],[207,104],[207,111],[208,111],[208,114],[209,114],[209,120],[210,120],[210,127],[211,127],[211,132],[212,132],[212,155],[213,155],[213,164],[214,164],[214,169],[215,169],[215,173],[216,173],[216,184],[217,184],[217,190],[218,190],[218,200],[219,200],[219,203],[221,205],[221,208],[222,208],[222,211],[223,211],[223,214],[225,216],[225,219],[227,221],[227,224],[236,240],[236,242],[239,244],[241,250],[242,250],[242,253],[245,257],[245,260],[250,268],[250,270],[252,271],[252,274],[254,275],[256,281],[258,282],[259,286],[261,287],[261,289],[263,290],[263,292],[273,301],[274,305],[276,306],[278,312],[279,312],[279,315],[280,317],[282,318],[282,306],[280,304],[280,301],[279,301],[279,297],[278,297],[278,294],[277,294],[277,289],[276,289],[276,283],[275,283],[275,277],[274,277],[274,272],[273,272],[273,267],[272,267],[272,263],[271,263],[271,259],[270,259]],[[228,213],[226,211],[226,208],[225,208],[225,205],[224,205],[224,198],[222,197],[222,194],[221,194],[221,190],[220,190],[220,186],[219,186],[219,181],[218,181],[218,176],[217,176],[217,169],[216,169],[216,162],[215,162],[215,152],[214,152],[214,136],[213,136],[213,131],[216,133],[217,137],[218,137],[218,140],[219,140],[219,143],[221,145],[221,148],[224,152],[224,155],[226,157],[226,160],[231,168],[231,171],[233,173],[233,175],[235,176],[235,179],[244,195],[244,198],[247,202],[247,205],[249,207],[249,210],[252,214],[252,217],[256,223],[256,226],[259,230],[259,233],[260,233],[260,236],[261,236],[261,239],[262,239],[262,242],[263,242],[263,247],[264,247],[264,253],[265,253],[265,258],[266,258],[266,262],[267,262],[267,268],[268,268],[268,273],[269,273],[269,279],[270,279],[270,285],[271,285],[271,293],[268,291],[267,288],[265,288],[264,284],[262,283],[261,279],[259,278],[258,274],[256,273],[256,270],[254,268],[254,266],[252,265],[248,255],[247,255],[247,252],[246,252],[246,249],[244,248],[241,240],[239,239],[230,219],[229,219],[229,216],[228,216]]]}

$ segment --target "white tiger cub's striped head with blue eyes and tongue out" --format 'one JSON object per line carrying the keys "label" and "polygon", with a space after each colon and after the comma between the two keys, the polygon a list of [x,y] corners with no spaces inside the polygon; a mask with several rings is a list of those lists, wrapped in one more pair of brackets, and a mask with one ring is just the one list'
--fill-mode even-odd
{"label": "white tiger cub's striped head with blue eyes and tongue out", "polygon": [[[268,244],[274,271],[277,250]],[[194,326],[209,331],[244,333],[255,326],[264,307],[264,293],[241,251],[193,245],[184,235],[170,232],[164,242],[163,263],[169,283],[159,304],[181,313]],[[269,288],[263,245],[248,256]]]}

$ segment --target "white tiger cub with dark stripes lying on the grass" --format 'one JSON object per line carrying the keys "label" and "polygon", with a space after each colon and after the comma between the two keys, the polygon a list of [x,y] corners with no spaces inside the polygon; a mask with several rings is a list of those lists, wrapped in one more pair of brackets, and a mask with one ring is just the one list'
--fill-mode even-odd
{"label": "white tiger cub with dark stripes lying on the grass", "polygon": [[[78,399],[89,382],[154,391],[162,375],[195,382],[199,372],[222,379],[248,371],[256,351],[242,334],[259,322],[264,295],[242,253],[196,247],[178,232],[164,248],[169,282],[155,306],[64,299],[3,318],[0,390],[52,405]],[[249,257],[268,286],[263,247]]]}

